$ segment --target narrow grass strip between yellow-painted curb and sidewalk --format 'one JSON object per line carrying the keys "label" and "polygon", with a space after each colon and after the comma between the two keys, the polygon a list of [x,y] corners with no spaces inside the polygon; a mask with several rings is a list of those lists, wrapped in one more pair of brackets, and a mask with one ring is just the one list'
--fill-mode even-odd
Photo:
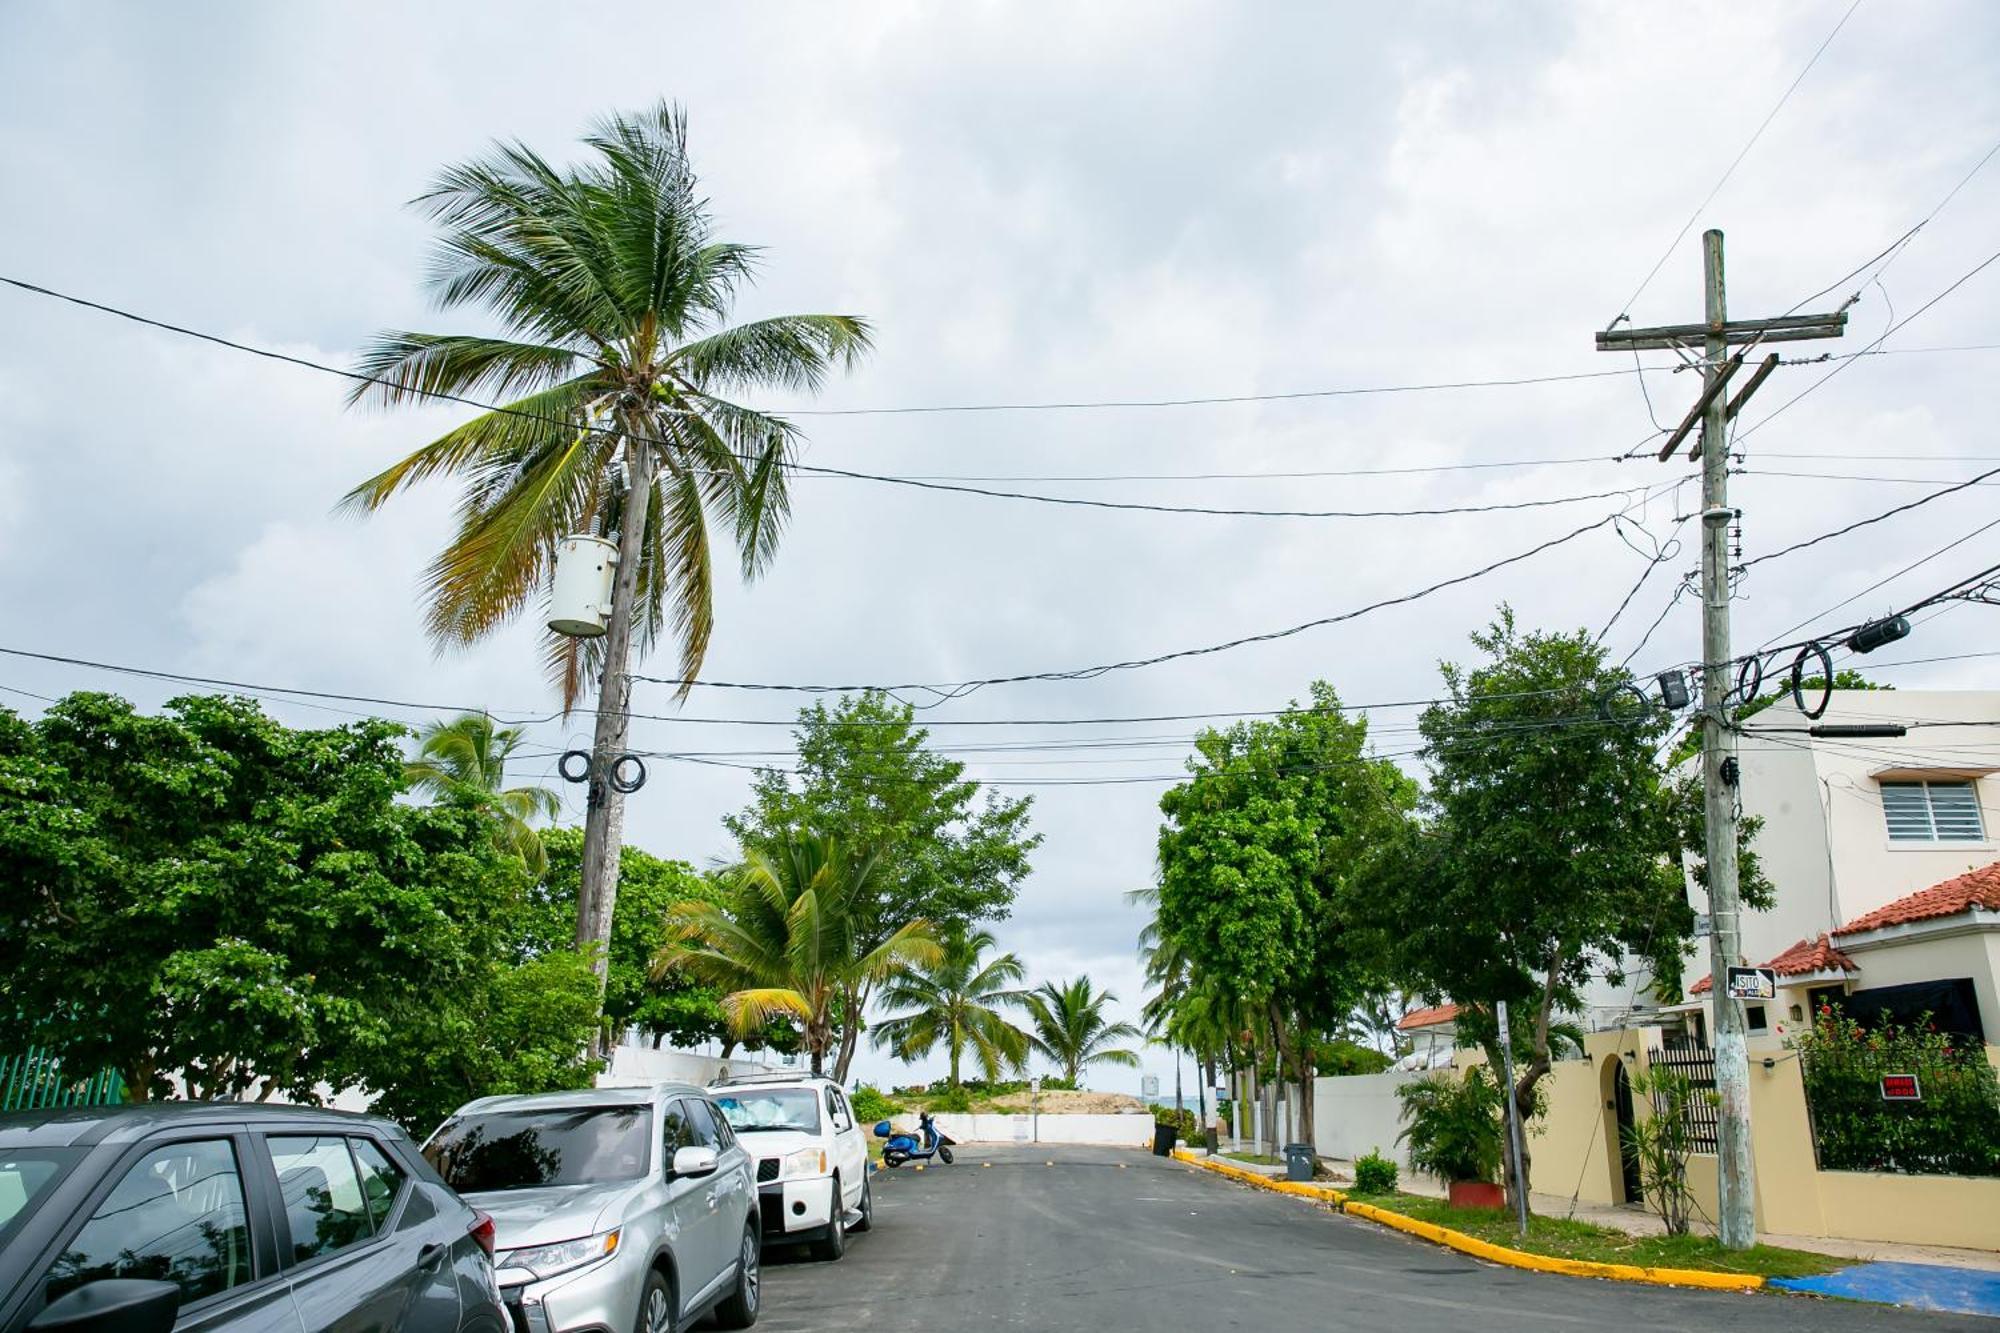
{"label": "narrow grass strip between yellow-painted curb and sidewalk", "polygon": [[1696,1269],[1702,1273],[1756,1273],[1762,1277],[1810,1277],[1848,1267],[1852,1259],[1814,1255],[1802,1249],[1754,1245],[1744,1251],[1722,1249],[1706,1235],[1632,1235],[1596,1223],[1568,1217],[1528,1217],[1528,1239],[1514,1233],[1514,1215],[1504,1209],[1454,1209],[1444,1199],[1424,1195],[1376,1195],[1368,1199],[1390,1213],[1464,1231],[1466,1235],[1524,1249],[1552,1259],[1588,1259],[1592,1263],[1630,1263],[1642,1269]]}

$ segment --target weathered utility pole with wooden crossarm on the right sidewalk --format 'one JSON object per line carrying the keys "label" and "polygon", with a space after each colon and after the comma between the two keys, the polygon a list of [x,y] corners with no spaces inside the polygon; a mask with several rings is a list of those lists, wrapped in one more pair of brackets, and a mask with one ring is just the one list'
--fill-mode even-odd
{"label": "weathered utility pole with wooden crossarm on the right sidewalk", "polygon": [[[1730,376],[1744,364],[1744,354],[1762,342],[1794,342],[1800,338],[1838,338],[1848,324],[1844,310],[1832,314],[1796,314],[1774,320],[1728,320],[1722,282],[1722,232],[1702,232],[1702,324],[1666,328],[1608,328],[1598,334],[1600,352],[1640,348],[1692,350],[1702,348],[1702,396],[1682,418],[1660,462],[1674,456],[1680,440],[1700,420],[1702,434],[1696,454],[1702,460],[1702,807],[1706,813],[1708,863],[1708,977],[1716,1011],[1716,1161],[1720,1179],[1718,1231],[1726,1249],[1756,1245],[1756,1163],[1750,1153],[1750,1051],[1744,1043],[1744,1005],[1728,989],[1730,967],[1740,963],[1742,921],[1736,883],[1738,783],[1736,727],[1730,719],[1734,662],[1730,660],[1730,456],[1728,422],[1742,404],[1778,368],[1772,352],[1734,398],[1726,396]],[[1730,356],[1730,344],[1744,350]],[[1692,454],[1690,454],[1692,456]]]}

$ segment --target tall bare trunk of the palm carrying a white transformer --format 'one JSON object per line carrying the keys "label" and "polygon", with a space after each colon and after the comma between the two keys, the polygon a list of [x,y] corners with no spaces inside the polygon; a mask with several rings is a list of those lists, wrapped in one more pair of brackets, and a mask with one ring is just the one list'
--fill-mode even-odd
{"label": "tall bare trunk of the palm carrying a white transformer", "polygon": [[[598,997],[610,975],[612,911],[618,907],[618,855],[624,847],[624,795],[612,789],[612,763],[624,753],[630,731],[632,606],[638,602],[638,566],[652,504],[652,448],[636,444],[644,430],[626,430],[626,504],[618,518],[618,568],[612,574],[612,614],[604,630],[604,677],[598,681],[598,725],[590,741],[590,785],[584,813],[584,881],[576,899],[576,947],[592,951]],[[602,1055],[602,1031],[596,1053]],[[818,1063],[814,1063],[818,1073]]]}

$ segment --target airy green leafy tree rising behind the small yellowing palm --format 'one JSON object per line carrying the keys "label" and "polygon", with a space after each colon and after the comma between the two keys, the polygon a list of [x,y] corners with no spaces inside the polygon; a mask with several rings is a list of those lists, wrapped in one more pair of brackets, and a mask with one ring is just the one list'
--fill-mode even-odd
{"label": "airy green leafy tree rising behind the small yellowing palm", "polygon": [[[794,833],[874,851],[856,905],[870,947],[918,919],[942,929],[1008,915],[1042,843],[1028,833],[1026,797],[988,791],[980,801],[966,767],[930,751],[914,711],[878,691],[800,709],[792,737],[794,771],[760,773],[750,805],[722,821],[746,851],[780,847]],[[838,1079],[848,1075],[868,999],[866,985],[842,997]]]}

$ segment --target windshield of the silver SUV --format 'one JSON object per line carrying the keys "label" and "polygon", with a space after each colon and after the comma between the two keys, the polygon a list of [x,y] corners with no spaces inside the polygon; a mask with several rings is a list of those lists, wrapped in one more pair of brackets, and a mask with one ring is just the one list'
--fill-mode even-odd
{"label": "windshield of the silver SUV", "polygon": [[454,1115],[424,1157],[462,1195],[604,1185],[646,1175],[652,1107],[550,1107]]}

